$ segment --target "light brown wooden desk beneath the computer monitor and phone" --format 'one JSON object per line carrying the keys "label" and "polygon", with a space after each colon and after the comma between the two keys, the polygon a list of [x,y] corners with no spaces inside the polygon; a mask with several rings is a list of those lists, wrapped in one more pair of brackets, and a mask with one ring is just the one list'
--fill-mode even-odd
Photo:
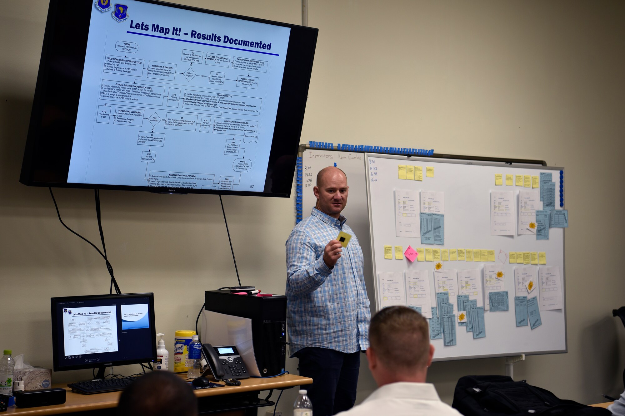
{"label": "light brown wooden desk beneath the computer monitor and phone", "polygon": [[[299,375],[286,374],[272,379],[244,379],[241,385],[232,387],[215,387],[214,389],[194,390],[198,400],[200,414],[206,413],[207,410],[215,412],[216,410],[253,410],[256,415],[256,408],[261,405],[246,404],[247,400],[253,400],[258,397],[261,390],[271,389],[289,389],[296,385],[311,384],[312,379],[308,377],[300,377]],[[223,384],[223,383],[219,383]],[[62,405],[27,407],[20,409],[19,407],[9,407],[5,414],[19,415],[63,415],[72,414],[79,415],[111,415],[111,410],[117,407],[119,395],[121,392],[99,393],[99,394],[80,394],[74,393],[66,385],[55,385],[54,387],[63,387],[68,390],[66,401]],[[231,404],[236,404],[232,406]],[[266,405],[266,404],[265,404]],[[220,408],[221,407],[221,408]]]}

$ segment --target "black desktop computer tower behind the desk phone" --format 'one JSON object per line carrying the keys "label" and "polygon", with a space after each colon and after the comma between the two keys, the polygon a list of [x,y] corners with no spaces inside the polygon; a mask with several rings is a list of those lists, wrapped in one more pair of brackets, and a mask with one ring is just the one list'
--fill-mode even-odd
{"label": "black desktop computer tower behind the desk phone", "polygon": [[286,296],[207,290],[201,340],[213,346],[236,345],[251,375],[281,374],[286,362]]}

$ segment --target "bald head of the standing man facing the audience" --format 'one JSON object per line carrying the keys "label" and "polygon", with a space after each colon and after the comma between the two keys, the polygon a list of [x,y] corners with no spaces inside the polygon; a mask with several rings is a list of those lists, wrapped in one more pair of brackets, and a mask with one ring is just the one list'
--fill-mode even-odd
{"label": "bald head of the standing man facing the audience", "polygon": [[317,198],[316,209],[338,218],[347,204],[347,176],[338,167],[324,167],[317,174],[317,186],[312,188]]}

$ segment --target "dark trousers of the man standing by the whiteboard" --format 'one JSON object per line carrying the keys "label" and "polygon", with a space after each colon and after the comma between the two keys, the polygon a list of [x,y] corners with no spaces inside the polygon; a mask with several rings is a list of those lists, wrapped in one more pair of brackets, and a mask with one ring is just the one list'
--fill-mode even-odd
{"label": "dark trousers of the man standing by the whiteboard", "polygon": [[356,385],[360,369],[360,352],[345,354],[319,347],[297,351],[299,375],[311,377],[312,384],[302,385],[308,390],[314,416],[332,416],[351,409],[356,402]]}

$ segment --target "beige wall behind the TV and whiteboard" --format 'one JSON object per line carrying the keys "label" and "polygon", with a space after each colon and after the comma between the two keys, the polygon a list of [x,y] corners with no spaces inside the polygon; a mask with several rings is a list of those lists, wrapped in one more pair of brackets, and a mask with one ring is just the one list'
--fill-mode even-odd
{"label": "beige wall behind the TV and whiteboard", "polygon": [[[178,1],[301,22],[296,0]],[[0,349],[50,367],[49,297],[104,293],[109,279],[95,250],[59,224],[47,189],[18,182],[47,12],[44,0],[27,4],[3,2],[0,17]],[[309,0],[319,41],[302,142],[566,167],[569,352],[527,357],[514,371],[585,403],[619,394],[625,367],[625,328],[611,317],[625,304],[623,21],[621,1]],[[98,242],[93,191],[55,196],[66,223]],[[119,285],[155,293],[158,330],[171,351],[174,330],[194,326],[202,292],[236,284],[219,198],[103,191],[101,199]],[[223,200],[241,283],[284,293],[294,199]],[[364,364],[359,401],[374,389]],[[296,362],[287,366],[294,372]],[[451,403],[462,375],[503,373],[502,358],[437,362],[429,380]],[[64,372],[54,381],[86,377]],[[293,399],[286,392],[278,409],[288,412]]]}

